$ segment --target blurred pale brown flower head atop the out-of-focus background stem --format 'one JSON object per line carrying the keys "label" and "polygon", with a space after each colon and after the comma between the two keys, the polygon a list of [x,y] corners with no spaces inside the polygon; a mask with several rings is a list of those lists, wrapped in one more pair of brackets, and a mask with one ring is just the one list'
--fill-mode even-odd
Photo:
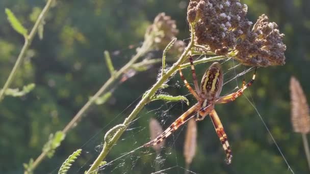
{"label": "blurred pale brown flower head atop the out-of-focus background stem", "polygon": [[156,49],[165,49],[177,34],[175,20],[166,16],[165,13],[160,13],[155,17],[153,24],[147,28],[145,40],[147,37],[152,37]]}

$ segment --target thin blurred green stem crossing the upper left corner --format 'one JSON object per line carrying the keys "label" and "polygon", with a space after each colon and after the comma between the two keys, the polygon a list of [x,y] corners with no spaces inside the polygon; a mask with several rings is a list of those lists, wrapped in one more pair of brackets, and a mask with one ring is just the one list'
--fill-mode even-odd
{"label": "thin blurred green stem crossing the upper left corner", "polygon": [[24,55],[25,53],[27,52],[28,48],[30,47],[31,43],[32,43],[32,40],[33,38],[35,37],[37,31],[38,31],[38,27],[40,25],[40,23],[42,22],[42,19],[45,17],[46,13],[48,12],[50,6],[51,6],[51,3],[53,2],[54,0],[48,0],[44,9],[42,10],[42,12],[40,13],[38,19],[36,20],[36,23],[34,24],[29,36],[25,36],[25,41],[24,41],[24,44],[20,50],[20,53],[17,57],[17,60],[15,62],[15,65],[7,79],[7,81],[5,82],[2,90],[0,90],[0,101],[3,100],[4,98],[4,94],[6,92],[6,90],[9,88],[9,86],[11,85],[15,75],[16,75],[16,72],[17,72],[17,69],[19,68],[20,64],[22,63],[23,59],[24,59]]}

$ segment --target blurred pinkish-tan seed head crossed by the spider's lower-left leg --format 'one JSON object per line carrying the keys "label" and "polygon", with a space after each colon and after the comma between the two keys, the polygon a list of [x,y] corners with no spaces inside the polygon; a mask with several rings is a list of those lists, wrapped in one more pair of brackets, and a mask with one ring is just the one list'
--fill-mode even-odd
{"label": "blurred pinkish-tan seed head crossed by the spider's lower-left leg", "polygon": [[[155,139],[158,135],[163,133],[163,129],[161,125],[156,119],[153,119],[153,118],[151,118],[149,121],[149,131],[150,131],[151,139]],[[165,144],[165,140],[163,140],[159,144],[156,144],[155,146],[152,146],[152,148],[154,149],[154,151],[159,152],[164,146],[164,144]]]}

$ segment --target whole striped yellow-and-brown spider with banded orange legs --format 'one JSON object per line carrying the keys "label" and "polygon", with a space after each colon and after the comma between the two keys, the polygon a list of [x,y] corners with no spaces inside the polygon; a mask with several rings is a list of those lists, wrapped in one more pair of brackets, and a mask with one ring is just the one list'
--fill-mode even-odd
{"label": "whole striped yellow-and-brown spider with banded orange legs", "polygon": [[186,87],[188,88],[190,93],[197,99],[198,102],[194,106],[192,106],[190,109],[188,109],[185,113],[183,113],[178,119],[176,119],[170,125],[170,127],[167,128],[157,138],[144,144],[144,147],[154,146],[162,142],[173,131],[175,131],[181,125],[186,123],[196,113],[197,113],[196,121],[203,120],[205,116],[209,114],[213,122],[215,131],[226,153],[226,162],[227,164],[230,164],[231,158],[233,157],[233,155],[231,155],[231,150],[229,147],[227,135],[224,131],[220,118],[218,117],[218,114],[216,113],[214,109],[214,106],[215,104],[228,103],[230,101],[234,101],[237,97],[241,96],[243,91],[247,89],[248,86],[250,86],[254,82],[256,69],[255,69],[255,72],[253,74],[251,81],[249,81],[246,85],[245,85],[245,82],[243,82],[243,86],[240,90],[238,90],[235,93],[226,95],[224,97],[220,97],[220,93],[223,87],[223,72],[221,70],[220,64],[215,62],[208,68],[208,70],[206,70],[206,72],[204,73],[202,77],[200,88],[199,88],[199,85],[196,79],[196,72],[195,72],[195,67],[193,64],[193,58],[190,56],[189,60],[191,63],[193,81],[194,81],[196,92],[192,89],[192,87],[189,85],[187,80],[184,78],[184,75],[180,68],[179,68],[179,73]]}

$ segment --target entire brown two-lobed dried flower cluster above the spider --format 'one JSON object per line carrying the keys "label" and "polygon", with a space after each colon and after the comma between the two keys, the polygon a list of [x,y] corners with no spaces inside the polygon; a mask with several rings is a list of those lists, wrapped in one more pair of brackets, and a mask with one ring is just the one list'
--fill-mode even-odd
{"label": "entire brown two-lobed dried flower cluster above the spider", "polygon": [[192,0],[188,21],[195,43],[218,55],[233,56],[244,65],[285,64],[285,44],[276,23],[262,15],[254,24],[246,18],[247,6],[238,0]]}

